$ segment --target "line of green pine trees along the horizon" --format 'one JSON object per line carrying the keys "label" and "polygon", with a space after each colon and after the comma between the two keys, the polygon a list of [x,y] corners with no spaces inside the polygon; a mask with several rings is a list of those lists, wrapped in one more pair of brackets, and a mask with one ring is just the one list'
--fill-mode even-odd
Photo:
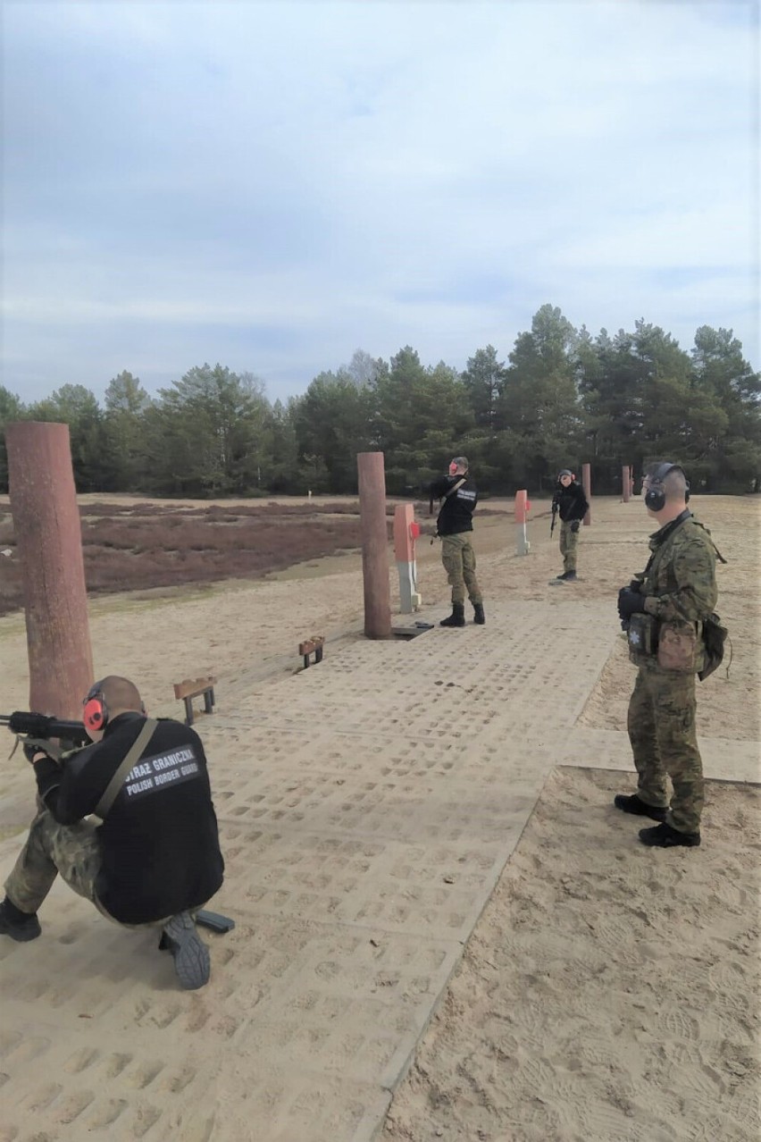
{"label": "line of green pine trees along the horizon", "polygon": [[731,330],[702,325],[688,353],[643,320],[592,337],[543,305],[507,361],[492,345],[464,371],[423,365],[411,346],[389,361],[358,349],[286,403],[221,364],[196,365],[155,397],[121,372],[103,407],[82,385],[33,404],[0,386],[0,490],[5,426],[31,419],[70,426],[80,492],[356,493],[356,455],[375,450],[389,494],[419,492],[461,453],[492,493],[547,491],[560,468],[585,461],[594,490],[615,493],[622,465],[640,474],[659,459],[681,463],[695,489],[758,491],[760,394]]}

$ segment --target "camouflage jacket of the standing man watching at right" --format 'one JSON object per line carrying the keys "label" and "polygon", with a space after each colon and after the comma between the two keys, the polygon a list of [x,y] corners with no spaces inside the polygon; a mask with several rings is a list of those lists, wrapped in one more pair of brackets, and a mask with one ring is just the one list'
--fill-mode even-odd
{"label": "camouflage jacket of the standing man watching at right", "polygon": [[685,512],[650,536],[649,546],[650,561],[637,576],[646,612],[662,621],[695,624],[699,637],[718,597],[711,532]]}

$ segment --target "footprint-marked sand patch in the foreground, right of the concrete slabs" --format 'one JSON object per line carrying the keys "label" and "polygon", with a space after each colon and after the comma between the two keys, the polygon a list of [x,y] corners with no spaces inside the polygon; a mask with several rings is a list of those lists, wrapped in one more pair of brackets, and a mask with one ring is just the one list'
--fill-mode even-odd
{"label": "footprint-marked sand patch in the foreground, right of the concrete slabs", "polygon": [[712,798],[699,859],[654,859],[590,813],[620,789],[548,781],[387,1142],[759,1137],[759,790]]}

